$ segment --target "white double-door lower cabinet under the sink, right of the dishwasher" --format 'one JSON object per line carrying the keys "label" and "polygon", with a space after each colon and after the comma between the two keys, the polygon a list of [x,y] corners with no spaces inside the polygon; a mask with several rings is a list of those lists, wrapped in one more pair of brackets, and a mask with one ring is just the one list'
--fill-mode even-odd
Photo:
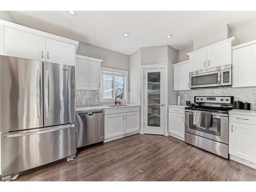
{"label": "white double-door lower cabinet under the sink, right of the dishwasher", "polygon": [[140,111],[105,114],[105,141],[119,139],[140,130]]}

